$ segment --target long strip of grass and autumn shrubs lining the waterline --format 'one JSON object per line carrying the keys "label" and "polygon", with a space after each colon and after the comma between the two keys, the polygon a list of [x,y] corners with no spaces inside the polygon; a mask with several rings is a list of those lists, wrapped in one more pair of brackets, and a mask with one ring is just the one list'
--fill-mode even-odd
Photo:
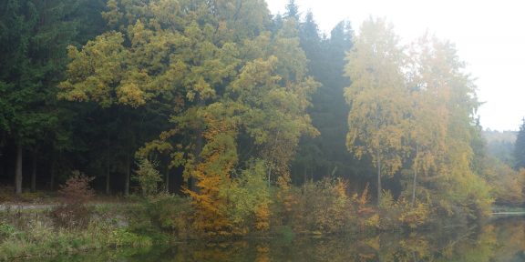
{"label": "long strip of grass and autumn shrubs lining the waterline", "polygon": [[[94,194],[88,187],[89,179],[75,177],[59,191],[60,204],[47,209],[0,211],[0,260],[149,247],[186,239],[363,236],[464,225],[479,218],[471,218],[473,212],[468,211],[474,208],[450,205],[453,215],[448,215],[444,207],[433,202],[411,204],[407,197],[394,198],[389,192],[384,193],[379,205],[372,204],[367,187],[361,194],[348,196],[345,183],[339,179],[289,186],[286,190],[249,180],[243,186],[250,190],[232,187],[229,195],[217,196],[217,201],[211,202],[217,205],[208,206],[202,206],[198,198],[158,191],[131,196],[121,203],[92,205]],[[254,195],[254,188],[264,194],[248,197]]]}

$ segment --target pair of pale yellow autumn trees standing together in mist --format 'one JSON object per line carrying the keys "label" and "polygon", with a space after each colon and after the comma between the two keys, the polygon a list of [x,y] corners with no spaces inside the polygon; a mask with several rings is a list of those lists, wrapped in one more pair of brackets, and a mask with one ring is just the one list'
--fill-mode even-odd
{"label": "pair of pale yellow autumn trees standing together in mist", "polygon": [[377,198],[382,176],[404,170],[413,183],[402,195],[411,191],[413,205],[417,192],[436,207],[465,207],[476,195],[479,202],[468,208],[486,212],[487,186],[471,168],[479,102],[454,46],[428,36],[401,46],[392,25],[370,19],[347,59],[352,85],[345,89],[351,106],[346,146],[357,157],[372,157]]}

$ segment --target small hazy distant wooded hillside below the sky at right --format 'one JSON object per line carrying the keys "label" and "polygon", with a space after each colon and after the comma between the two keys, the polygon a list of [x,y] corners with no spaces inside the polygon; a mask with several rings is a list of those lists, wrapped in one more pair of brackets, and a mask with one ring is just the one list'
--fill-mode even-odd
{"label": "small hazy distant wooded hillside below the sky at right", "polygon": [[499,160],[514,166],[514,159],[512,152],[514,151],[514,143],[518,131],[492,131],[485,130],[482,132],[483,137],[487,141],[487,151],[490,156],[495,156]]}

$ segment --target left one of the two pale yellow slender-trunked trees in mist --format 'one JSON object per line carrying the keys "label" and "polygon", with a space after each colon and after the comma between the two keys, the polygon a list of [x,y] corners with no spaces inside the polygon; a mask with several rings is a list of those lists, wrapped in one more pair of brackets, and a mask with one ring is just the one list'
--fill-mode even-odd
{"label": "left one of the two pale yellow slender-trunked trees in mist", "polygon": [[377,168],[377,199],[382,194],[381,176],[396,173],[407,154],[406,58],[392,25],[372,18],[363,23],[347,56],[345,75],[352,84],[345,88],[350,105],[346,146],[357,158],[372,157]]}

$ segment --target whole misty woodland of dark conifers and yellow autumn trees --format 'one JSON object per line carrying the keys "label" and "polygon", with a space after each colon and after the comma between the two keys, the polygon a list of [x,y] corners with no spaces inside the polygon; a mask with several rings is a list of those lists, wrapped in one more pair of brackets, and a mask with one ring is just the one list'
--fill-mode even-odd
{"label": "whole misty woodland of dark conifers and yellow autumn trees", "polygon": [[336,231],[350,203],[410,227],[522,205],[525,127],[488,153],[454,45],[356,31],[324,35],[293,1],[2,1],[0,183],[54,191],[78,170],[101,194],[188,196],[218,235]]}

